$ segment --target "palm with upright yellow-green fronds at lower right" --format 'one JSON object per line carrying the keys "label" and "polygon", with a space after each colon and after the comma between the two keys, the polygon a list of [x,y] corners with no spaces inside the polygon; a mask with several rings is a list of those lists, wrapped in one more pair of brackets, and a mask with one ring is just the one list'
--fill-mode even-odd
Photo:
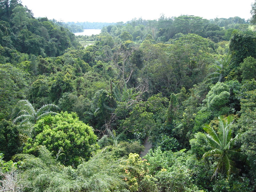
{"label": "palm with upright yellow-green fronds at lower right", "polygon": [[234,116],[228,116],[225,120],[223,116],[219,116],[219,127],[216,133],[209,124],[204,124],[203,129],[206,132],[206,138],[209,141],[210,146],[205,146],[209,151],[205,152],[203,157],[215,156],[218,159],[217,166],[212,175],[212,179],[218,175],[219,172],[223,172],[226,169],[227,176],[231,172],[236,172],[235,160],[245,160],[245,155],[240,151],[240,148],[234,148],[234,142],[239,137],[237,134],[232,138],[231,125],[234,122]]}

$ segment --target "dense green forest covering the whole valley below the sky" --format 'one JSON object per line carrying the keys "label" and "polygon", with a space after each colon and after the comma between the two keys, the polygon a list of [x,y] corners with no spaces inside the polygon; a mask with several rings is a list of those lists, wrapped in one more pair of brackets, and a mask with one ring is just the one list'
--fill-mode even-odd
{"label": "dense green forest covering the whole valley below the sky", "polygon": [[76,37],[0,1],[0,191],[256,191],[251,13]]}

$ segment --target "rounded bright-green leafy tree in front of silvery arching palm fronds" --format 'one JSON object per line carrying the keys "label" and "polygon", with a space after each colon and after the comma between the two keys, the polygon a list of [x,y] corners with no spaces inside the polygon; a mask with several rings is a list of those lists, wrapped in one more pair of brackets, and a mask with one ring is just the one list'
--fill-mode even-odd
{"label": "rounded bright-green leafy tree in front of silvery arching palm fronds", "polygon": [[44,145],[65,165],[77,166],[98,148],[92,127],[80,121],[76,113],[45,116],[36,123],[35,131],[38,134],[28,140],[24,152],[38,155],[38,146]]}

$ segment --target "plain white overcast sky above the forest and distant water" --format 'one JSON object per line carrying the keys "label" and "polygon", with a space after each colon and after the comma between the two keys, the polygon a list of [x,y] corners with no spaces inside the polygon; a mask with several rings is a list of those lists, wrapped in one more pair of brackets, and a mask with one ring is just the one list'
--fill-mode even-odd
{"label": "plain white overcast sky above the forest and distant water", "polygon": [[35,17],[74,22],[119,22],[195,15],[204,19],[251,18],[254,0],[21,0]]}

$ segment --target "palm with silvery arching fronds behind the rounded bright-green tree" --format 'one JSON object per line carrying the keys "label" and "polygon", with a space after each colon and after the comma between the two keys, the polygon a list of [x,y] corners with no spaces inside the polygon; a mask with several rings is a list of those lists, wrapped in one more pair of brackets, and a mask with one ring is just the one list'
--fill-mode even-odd
{"label": "palm with silvery arching fronds behind the rounded bright-green tree", "polygon": [[35,109],[28,100],[20,100],[18,103],[22,105],[23,109],[19,112],[21,115],[16,117],[13,123],[20,122],[20,129],[28,135],[31,135],[34,125],[39,119],[47,115],[57,115],[56,112],[50,111],[50,109],[60,109],[54,104],[47,104],[39,109]]}

